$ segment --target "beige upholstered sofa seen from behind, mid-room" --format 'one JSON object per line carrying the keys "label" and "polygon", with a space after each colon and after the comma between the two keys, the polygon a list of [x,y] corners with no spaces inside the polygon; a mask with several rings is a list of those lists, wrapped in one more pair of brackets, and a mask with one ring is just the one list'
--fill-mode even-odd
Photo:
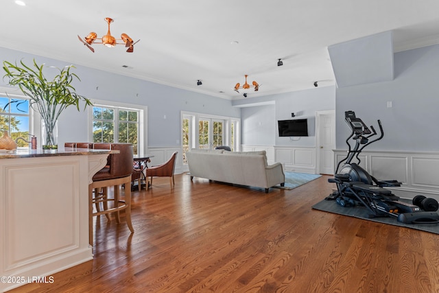
{"label": "beige upholstered sofa seen from behind, mid-room", "polygon": [[285,183],[281,163],[268,165],[265,151],[228,152],[224,150],[191,150],[187,152],[191,180],[193,177],[265,188]]}

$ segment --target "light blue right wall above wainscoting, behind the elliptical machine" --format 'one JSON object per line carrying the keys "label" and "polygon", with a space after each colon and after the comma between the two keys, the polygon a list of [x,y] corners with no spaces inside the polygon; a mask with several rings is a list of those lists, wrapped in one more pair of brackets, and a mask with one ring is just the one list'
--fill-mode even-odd
{"label": "light blue right wall above wainscoting, behind the elliptical machine", "polygon": [[433,45],[394,54],[393,81],[337,89],[336,148],[346,149],[344,111],[354,110],[368,126],[382,121],[384,138],[368,150],[438,152],[438,72],[439,45]]}

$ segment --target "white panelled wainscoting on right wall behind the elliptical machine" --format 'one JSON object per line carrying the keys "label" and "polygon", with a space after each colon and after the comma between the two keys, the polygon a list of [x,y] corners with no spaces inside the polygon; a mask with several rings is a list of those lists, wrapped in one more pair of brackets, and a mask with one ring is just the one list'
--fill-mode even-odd
{"label": "white panelled wainscoting on right wall behind the elliptical machine", "polygon": [[[334,150],[334,153],[337,166],[346,157],[346,150]],[[389,188],[396,196],[413,198],[422,194],[439,200],[439,152],[363,151],[359,159],[359,165],[378,180],[394,179],[403,183],[401,187]]]}

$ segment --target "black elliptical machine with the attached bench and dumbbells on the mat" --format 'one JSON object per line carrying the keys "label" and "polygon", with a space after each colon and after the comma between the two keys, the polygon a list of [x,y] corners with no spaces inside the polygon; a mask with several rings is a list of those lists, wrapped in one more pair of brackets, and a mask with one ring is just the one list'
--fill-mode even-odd
{"label": "black elliptical machine with the attached bench and dumbbells on the mat", "polygon": [[[411,223],[439,223],[439,214],[436,213],[439,204],[434,198],[415,196],[413,203],[401,202],[399,196],[392,194],[390,189],[383,187],[399,187],[398,180],[377,180],[365,169],[359,166],[359,154],[366,146],[379,141],[384,137],[381,121],[378,120],[380,135],[376,139],[369,140],[377,135],[375,128],[370,129],[364,122],[355,117],[353,111],[345,112],[345,121],[352,132],[346,139],[348,154],[345,159],[337,164],[334,178],[329,178],[330,183],[337,185],[337,191],[329,195],[326,200],[336,200],[342,207],[355,207],[362,205],[368,209],[370,218],[394,216],[399,222]],[[355,140],[354,148],[351,148],[350,139]],[[357,163],[353,160],[357,159]],[[340,172],[340,165],[343,163]],[[421,207],[425,210],[422,211]]]}

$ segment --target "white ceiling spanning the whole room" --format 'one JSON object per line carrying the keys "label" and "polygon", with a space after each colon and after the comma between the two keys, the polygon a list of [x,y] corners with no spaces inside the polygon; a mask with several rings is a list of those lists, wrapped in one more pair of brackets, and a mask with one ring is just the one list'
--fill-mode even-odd
{"label": "white ceiling spanning the whole room", "polygon": [[[327,47],[347,40],[392,30],[394,51],[439,40],[437,0],[23,1],[1,1],[0,47],[225,99],[244,98],[233,87],[245,74],[260,85],[248,97],[333,85]],[[133,53],[80,43],[106,34],[105,17],[112,36],[140,39]]]}

